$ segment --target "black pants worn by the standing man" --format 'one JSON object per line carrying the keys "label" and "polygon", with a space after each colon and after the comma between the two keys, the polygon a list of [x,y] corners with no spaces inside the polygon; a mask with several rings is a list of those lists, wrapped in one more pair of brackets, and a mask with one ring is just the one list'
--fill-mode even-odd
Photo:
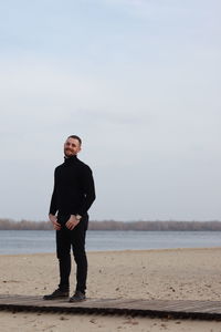
{"label": "black pants worn by the standing man", "polygon": [[65,222],[70,215],[57,216],[61,230],[56,230],[56,256],[60,266],[60,289],[70,289],[71,247],[76,262],[76,290],[85,292],[87,277],[87,258],[85,252],[85,236],[88,226],[88,216],[84,216],[73,230],[66,228]]}

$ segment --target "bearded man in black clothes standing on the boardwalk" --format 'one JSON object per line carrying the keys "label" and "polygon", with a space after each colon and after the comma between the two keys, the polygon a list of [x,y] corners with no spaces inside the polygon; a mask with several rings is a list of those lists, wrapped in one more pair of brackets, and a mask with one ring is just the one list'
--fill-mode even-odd
{"label": "bearded man in black clothes standing on the boardwalk", "polygon": [[71,135],[64,143],[64,163],[55,168],[49,219],[56,230],[56,256],[60,284],[44,300],[69,298],[71,247],[76,262],[76,289],[70,302],[86,300],[87,258],[85,235],[88,226],[87,210],[95,200],[91,168],[77,158],[82,139]]}

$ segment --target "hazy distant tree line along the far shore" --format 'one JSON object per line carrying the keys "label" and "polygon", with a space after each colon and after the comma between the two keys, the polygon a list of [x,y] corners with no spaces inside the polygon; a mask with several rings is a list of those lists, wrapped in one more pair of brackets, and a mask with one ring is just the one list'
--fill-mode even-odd
{"label": "hazy distant tree line along the far shore", "polygon": [[[30,221],[12,219],[0,219],[0,230],[52,230],[50,221]],[[90,230],[149,230],[149,231],[171,231],[171,230],[221,230],[221,221],[177,221],[177,220],[155,220],[155,221],[90,221]]]}

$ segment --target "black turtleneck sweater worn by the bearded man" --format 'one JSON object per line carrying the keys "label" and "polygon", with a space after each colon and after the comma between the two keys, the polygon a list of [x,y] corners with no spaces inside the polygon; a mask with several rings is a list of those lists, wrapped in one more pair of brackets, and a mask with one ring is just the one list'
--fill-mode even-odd
{"label": "black turtleneck sweater worn by the bearded man", "polygon": [[95,200],[94,179],[91,168],[77,156],[64,158],[55,168],[54,190],[50,214],[84,216]]}

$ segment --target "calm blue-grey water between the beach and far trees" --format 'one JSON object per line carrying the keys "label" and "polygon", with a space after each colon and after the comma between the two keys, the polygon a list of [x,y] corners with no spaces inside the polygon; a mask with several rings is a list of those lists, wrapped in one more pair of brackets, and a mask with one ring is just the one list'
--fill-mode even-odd
{"label": "calm blue-grey water between the beach and far trees", "polygon": [[[87,251],[221,247],[221,231],[87,231]],[[0,230],[0,255],[54,252],[51,230]]]}

